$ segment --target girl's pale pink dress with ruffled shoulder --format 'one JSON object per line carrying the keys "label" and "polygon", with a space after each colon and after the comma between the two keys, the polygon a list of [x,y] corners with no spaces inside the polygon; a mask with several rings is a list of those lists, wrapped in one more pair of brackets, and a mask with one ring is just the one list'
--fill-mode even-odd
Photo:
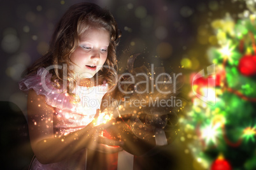
{"label": "girl's pale pink dress with ruffled shoulder", "polygon": [[[50,80],[51,77],[52,74],[45,68],[40,68],[37,74],[31,74],[22,79],[19,86],[20,90],[25,92],[33,89],[36,94],[45,96],[46,103],[55,109],[53,115],[55,136],[59,137],[78,131],[92,122],[94,115],[96,115],[96,110],[101,106],[104,94],[108,91],[108,83],[104,82],[103,85],[89,88],[77,85],[73,90],[73,94],[80,97],[80,102],[75,103],[73,97],[69,96],[64,88],[57,89],[53,87],[53,82]],[[76,169],[74,159],[78,159],[80,154],[77,153],[70,159],[54,164],[40,164],[37,159],[34,159],[31,169],[67,169],[69,166],[70,169]]]}

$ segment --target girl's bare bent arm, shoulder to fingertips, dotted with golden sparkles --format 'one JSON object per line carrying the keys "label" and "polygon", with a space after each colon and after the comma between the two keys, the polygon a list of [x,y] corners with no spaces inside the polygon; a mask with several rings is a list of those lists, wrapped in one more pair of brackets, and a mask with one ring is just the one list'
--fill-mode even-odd
{"label": "girl's bare bent arm, shoulder to fingertips, dotted with golden sparkles", "polygon": [[46,104],[45,96],[37,95],[34,90],[29,91],[27,112],[32,150],[41,164],[59,162],[83,148],[107,153],[122,150],[111,147],[122,145],[122,142],[99,136],[99,132],[110,127],[113,121],[96,127],[90,123],[79,131],[56,137],[53,134],[53,107]]}

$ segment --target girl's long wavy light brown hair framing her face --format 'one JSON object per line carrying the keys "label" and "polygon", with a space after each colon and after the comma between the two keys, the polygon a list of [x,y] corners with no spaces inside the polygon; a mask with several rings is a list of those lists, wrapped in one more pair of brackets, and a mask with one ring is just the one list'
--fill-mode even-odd
{"label": "girl's long wavy light brown hair framing her face", "polygon": [[[70,60],[70,56],[78,47],[79,38],[83,32],[92,27],[110,32],[108,56],[103,69],[96,74],[99,80],[96,84],[106,80],[109,87],[113,87],[117,76],[116,47],[121,33],[110,11],[92,3],[74,4],[64,13],[55,27],[48,52],[28,67],[24,75],[35,74],[40,67],[64,66],[66,64],[68,75],[64,75],[66,73],[63,69],[58,68],[51,69],[49,72],[52,74],[53,82],[58,80],[57,87],[63,83],[65,77],[68,77],[67,88],[68,92],[71,93],[75,88],[76,80],[72,77],[74,73],[70,66],[73,62]],[[94,78],[94,80],[96,79]]]}

